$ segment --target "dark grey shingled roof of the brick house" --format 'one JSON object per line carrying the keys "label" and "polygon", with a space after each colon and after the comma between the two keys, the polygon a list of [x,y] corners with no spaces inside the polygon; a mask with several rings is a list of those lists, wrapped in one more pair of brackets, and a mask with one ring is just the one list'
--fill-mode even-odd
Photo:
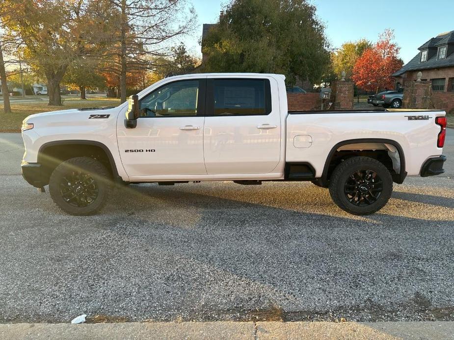
{"label": "dark grey shingled roof of the brick house", "polygon": [[[454,31],[441,33],[435,38],[429,39],[424,43],[419,50],[438,48],[443,45],[454,44]],[[454,66],[454,53],[446,56],[444,59],[438,59],[437,53],[431,56],[427,61],[421,62],[421,52],[415,55],[407,64],[405,64],[398,72],[394,73],[394,77],[401,76],[407,71],[428,70],[440,67]]]}

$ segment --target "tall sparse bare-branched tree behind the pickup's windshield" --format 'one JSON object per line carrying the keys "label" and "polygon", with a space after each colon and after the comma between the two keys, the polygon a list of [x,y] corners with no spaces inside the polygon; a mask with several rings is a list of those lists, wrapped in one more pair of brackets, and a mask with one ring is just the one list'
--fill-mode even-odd
{"label": "tall sparse bare-branched tree behind the pickup's windshield", "polygon": [[97,15],[113,24],[105,57],[119,73],[121,102],[127,73],[154,71],[156,57],[171,55],[175,38],[190,33],[196,21],[187,0],[97,0]]}

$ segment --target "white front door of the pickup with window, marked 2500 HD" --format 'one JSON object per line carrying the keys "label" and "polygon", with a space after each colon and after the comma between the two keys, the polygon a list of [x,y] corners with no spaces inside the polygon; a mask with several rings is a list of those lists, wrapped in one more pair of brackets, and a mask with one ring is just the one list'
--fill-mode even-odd
{"label": "white front door of the pickup with window, marked 2500 HD", "polygon": [[[131,180],[205,175],[203,124],[206,79],[167,83],[140,98],[137,126],[120,117],[118,147]],[[163,177],[165,179],[165,177]]]}

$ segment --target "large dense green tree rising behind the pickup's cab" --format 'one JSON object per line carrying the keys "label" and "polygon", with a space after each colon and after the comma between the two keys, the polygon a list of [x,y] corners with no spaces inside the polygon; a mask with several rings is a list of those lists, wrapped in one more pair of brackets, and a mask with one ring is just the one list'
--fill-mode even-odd
{"label": "large dense green tree rising behind the pickup's cab", "polygon": [[282,73],[319,82],[330,55],[324,26],[306,0],[233,0],[202,42],[209,72]]}

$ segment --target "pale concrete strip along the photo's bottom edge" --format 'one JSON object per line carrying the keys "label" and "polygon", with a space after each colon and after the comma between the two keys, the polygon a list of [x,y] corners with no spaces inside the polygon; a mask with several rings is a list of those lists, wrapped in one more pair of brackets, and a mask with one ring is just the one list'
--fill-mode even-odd
{"label": "pale concrete strip along the photo's bottom edge", "polygon": [[0,324],[0,339],[454,339],[454,322],[131,322]]}

